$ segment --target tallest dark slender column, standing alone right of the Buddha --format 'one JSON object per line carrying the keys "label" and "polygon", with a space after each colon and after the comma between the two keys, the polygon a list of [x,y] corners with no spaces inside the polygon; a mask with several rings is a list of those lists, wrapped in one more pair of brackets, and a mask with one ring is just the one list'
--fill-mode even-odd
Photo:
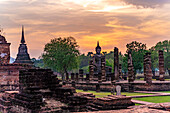
{"label": "tallest dark slender column, standing alone right of the Buddha", "polygon": [[119,50],[117,47],[114,48],[114,74],[115,79],[119,81]]}

